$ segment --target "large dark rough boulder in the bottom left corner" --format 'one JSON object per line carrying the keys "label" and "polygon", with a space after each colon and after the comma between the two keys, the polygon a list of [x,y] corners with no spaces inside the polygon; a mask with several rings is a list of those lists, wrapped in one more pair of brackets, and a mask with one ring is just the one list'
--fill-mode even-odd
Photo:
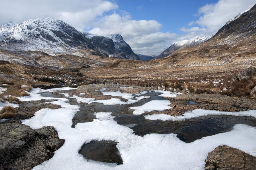
{"label": "large dark rough boulder in the bottom left corner", "polygon": [[64,144],[54,127],[31,129],[17,123],[0,124],[0,169],[32,169],[50,159]]}

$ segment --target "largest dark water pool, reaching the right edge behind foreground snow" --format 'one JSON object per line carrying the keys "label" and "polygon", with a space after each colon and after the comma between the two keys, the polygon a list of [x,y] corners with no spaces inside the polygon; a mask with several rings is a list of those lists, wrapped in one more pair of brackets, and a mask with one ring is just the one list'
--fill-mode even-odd
{"label": "largest dark water pool, reaching the right edge behind foreground snow", "polygon": [[235,124],[248,124],[256,127],[254,117],[208,115],[185,121],[147,120],[142,115],[125,115],[114,118],[118,124],[136,124],[130,127],[136,135],[144,136],[150,133],[176,133],[178,138],[186,143],[193,142],[205,136],[228,132]]}

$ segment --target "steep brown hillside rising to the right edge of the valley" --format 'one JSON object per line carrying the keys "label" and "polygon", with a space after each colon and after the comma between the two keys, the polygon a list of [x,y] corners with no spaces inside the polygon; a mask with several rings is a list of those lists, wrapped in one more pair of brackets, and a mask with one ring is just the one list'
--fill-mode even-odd
{"label": "steep brown hillside rising to the right edge of the valley", "polygon": [[234,65],[248,67],[256,64],[256,5],[231,19],[208,41],[178,50],[161,60],[152,61],[156,67],[193,67]]}

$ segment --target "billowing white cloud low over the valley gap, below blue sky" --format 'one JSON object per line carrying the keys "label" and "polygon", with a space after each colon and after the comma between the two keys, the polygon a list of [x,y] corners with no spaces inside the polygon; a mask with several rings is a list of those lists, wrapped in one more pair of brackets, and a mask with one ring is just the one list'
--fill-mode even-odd
{"label": "billowing white cloud low over the valley gap, below blue sky", "polygon": [[129,13],[104,16],[93,24],[89,32],[107,36],[121,34],[134,52],[158,55],[172,43],[177,35],[160,32],[162,25],[155,20],[133,20]]}

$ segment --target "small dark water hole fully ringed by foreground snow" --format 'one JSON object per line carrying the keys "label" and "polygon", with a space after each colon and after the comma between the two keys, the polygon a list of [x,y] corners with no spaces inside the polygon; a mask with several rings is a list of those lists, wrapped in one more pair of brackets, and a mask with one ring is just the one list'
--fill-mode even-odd
{"label": "small dark water hole fully ringed by foreground snow", "polygon": [[113,141],[92,141],[83,144],[78,153],[89,160],[117,163],[119,165],[123,163],[123,160],[116,146],[117,142]]}

